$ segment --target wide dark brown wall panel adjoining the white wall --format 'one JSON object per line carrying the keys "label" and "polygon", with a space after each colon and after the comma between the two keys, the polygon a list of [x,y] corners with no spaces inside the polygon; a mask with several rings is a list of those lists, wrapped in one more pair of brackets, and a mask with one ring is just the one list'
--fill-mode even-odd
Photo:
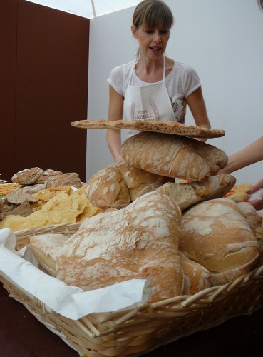
{"label": "wide dark brown wall panel adjoining the white wall", "polygon": [[8,129],[13,171],[6,178],[39,166],[85,181],[86,131],[71,121],[87,116],[89,20],[24,0],[16,13],[17,35],[8,35],[17,45],[15,121]]}

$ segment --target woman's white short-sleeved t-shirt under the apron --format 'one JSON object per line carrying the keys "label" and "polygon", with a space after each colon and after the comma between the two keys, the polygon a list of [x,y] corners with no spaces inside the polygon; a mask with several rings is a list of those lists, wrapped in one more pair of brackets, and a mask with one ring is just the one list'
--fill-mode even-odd
{"label": "woman's white short-sleeved t-shirt under the apron", "polygon": [[[146,86],[149,84],[138,78],[134,71],[134,64],[135,60],[115,67],[108,78],[110,86],[123,97],[125,97],[125,91],[129,84],[130,71],[133,71],[130,86]],[[165,85],[175,113],[175,120],[185,123],[185,99],[201,86],[197,72],[189,64],[174,61],[172,71],[165,77]]]}

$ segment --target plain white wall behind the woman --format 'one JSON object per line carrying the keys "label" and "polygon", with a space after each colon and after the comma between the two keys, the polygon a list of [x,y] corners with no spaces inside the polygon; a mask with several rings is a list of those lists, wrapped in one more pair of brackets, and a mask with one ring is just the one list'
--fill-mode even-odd
{"label": "plain white wall behind the woman", "polygon": [[[257,0],[166,2],[175,16],[166,54],[197,70],[212,127],[226,132],[207,143],[232,154],[263,135],[263,13]],[[113,67],[135,56],[134,9],[91,19],[88,119],[108,118],[106,79]],[[189,111],[186,124],[194,124]],[[111,163],[105,129],[88,130],[87,179]],[[239,184],[256,183],[263,161],[234,176]]]}

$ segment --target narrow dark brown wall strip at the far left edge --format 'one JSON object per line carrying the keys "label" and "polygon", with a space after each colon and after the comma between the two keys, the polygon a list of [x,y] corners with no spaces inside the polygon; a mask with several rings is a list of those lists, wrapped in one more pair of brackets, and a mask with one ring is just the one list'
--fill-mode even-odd
{"label": "narrow dark brown wall strip at the far left edge", "polygon": [[0,178],[15,170],[17,0],[0,1]]}

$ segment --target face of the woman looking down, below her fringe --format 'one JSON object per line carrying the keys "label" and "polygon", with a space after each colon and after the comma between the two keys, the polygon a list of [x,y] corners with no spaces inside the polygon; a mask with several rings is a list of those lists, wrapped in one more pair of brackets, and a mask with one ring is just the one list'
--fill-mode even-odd
{"label": "face of the woman looking down, below her fringe", "polygon": [[170,38],[170,29],[148,29],[143,24],[138,29],[133,25],[131,31],[135,39],[138,39],[140,54],[144,54],[149,59],[163,57]]}

